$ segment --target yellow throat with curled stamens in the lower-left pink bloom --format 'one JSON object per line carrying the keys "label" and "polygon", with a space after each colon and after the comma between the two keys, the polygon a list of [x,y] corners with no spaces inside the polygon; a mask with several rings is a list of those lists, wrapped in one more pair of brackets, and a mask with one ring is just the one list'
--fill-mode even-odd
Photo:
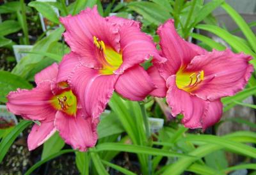
{"label": "yellow throat with curled stamens in the lower-left pink bloom", "polygon": [[76,116],[77,99],[71,90],[53,96],[50,102],[55,109],[61,110],[69,116]]}

